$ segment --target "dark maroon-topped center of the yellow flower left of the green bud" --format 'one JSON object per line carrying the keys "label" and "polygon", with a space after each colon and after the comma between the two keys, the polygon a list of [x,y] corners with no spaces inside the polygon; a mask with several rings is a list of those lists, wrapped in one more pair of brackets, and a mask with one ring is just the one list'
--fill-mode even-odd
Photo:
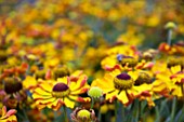
{"label": "dark maroon-topped center of the yellow flower left of the green bud", "polygon": [[66,85],[65,83],[55,84],[52,91],[52,96],[60,98],[65,97],[70,93],[68,85]]}

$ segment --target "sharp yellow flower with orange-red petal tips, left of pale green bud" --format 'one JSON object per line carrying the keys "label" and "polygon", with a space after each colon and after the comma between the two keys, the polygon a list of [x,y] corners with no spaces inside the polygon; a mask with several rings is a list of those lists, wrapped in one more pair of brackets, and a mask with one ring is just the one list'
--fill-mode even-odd
{"label": "sharp yellow flower with orange-red petal tips, left of pale green bud", "polygon": [[87,76],[80,74],[74,79],[70,77],[58,78],[57,81],[48,80],[41,82],[32,93],[36,106],[39,109],[44,107],[57,110],[62,106],[75,107],[75,101],[87,101],[90,98],[82,98],[79,94],[88,91]]}

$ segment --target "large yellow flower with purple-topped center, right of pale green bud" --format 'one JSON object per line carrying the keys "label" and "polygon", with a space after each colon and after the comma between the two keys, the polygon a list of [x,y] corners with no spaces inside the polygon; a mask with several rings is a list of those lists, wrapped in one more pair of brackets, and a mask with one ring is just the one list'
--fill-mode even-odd
{"label": "large yellow flower with purple-topped center, right of pale green bud", "polygon": [[111,103],[117,98],[123,105],[129,105],[140,95],[150,96],[149,91],[152,90],[152,84],[142,83],[134,85],[137,77],[137,72],[130,71],[127,73],[115,70],[106,73],[103,79],[94,80],[92,85],[98,86],[104,91],[106,100]]}

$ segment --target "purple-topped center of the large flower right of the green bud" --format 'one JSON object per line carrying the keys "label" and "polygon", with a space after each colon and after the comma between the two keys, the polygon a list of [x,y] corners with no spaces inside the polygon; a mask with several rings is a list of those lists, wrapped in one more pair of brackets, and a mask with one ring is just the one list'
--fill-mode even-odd
{"label": "purple-topped center of the large flower right of the green bud", "polygon": [[134,81],[131,79],[131,77],[128,73],[120,73],[114,79],[115,87],[118,90],[128,90],[131,89],[134,84]]}

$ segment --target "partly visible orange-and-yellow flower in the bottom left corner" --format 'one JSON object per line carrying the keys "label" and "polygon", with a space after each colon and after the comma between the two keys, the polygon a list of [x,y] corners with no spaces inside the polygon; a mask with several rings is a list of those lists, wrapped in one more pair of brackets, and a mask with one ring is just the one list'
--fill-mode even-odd
{"label": "partly visible orange-and-yellow flower in the bottom left corner", "polygon": [[2,109],[0,110],[1,114],[0,122],[17,122],[15,113],[16,113],[15,109],[6,111],[6,107],[3,106]]}

